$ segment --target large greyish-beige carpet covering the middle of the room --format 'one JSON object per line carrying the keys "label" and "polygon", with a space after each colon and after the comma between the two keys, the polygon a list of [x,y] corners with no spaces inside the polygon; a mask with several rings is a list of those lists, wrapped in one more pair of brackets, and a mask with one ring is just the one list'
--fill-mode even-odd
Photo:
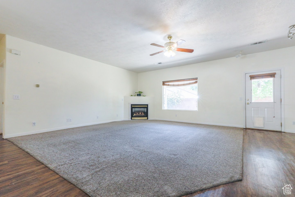
{"label": "large greyish-beige carpet covering the middle of the room", "polygon": [[182,196],[242,180],[241,128],[121,121],[8,140],[90,196]]}

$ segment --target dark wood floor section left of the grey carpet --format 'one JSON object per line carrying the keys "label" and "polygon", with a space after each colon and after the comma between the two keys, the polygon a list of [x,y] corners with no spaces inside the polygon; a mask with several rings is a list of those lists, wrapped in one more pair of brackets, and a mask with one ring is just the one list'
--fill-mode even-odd
{"label": "dark wood floor section left of the grey carpet", "polygon": [[88,196],[0,136],[0,196]]}

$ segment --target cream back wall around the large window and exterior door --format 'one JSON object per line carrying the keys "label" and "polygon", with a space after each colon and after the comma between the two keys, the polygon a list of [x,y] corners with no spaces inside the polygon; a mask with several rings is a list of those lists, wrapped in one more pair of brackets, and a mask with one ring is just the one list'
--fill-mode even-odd
{"label": "cream back wall around the large window and exterior door", "polygon": [[[155,118],[243,127],[243,75],[284,68],[285,131],[295,132],[295,47],[254,53],[138,75],[138,89],[155,97]],[[198,111],[162,110],[162,81],[198,77]],[[177,117],[175,117],[177,114]]]}

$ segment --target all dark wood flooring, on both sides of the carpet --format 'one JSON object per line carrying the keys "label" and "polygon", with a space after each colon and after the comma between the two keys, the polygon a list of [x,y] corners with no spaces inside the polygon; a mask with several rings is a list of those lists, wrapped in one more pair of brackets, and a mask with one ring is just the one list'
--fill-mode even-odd
{"label": "all dark wood flooring, on both sides of the carpet", "polygon": [[[0,136],[0,196],[88,196]],[[243,180],[187,195],[295,196],[295,133],[245,129]]]}

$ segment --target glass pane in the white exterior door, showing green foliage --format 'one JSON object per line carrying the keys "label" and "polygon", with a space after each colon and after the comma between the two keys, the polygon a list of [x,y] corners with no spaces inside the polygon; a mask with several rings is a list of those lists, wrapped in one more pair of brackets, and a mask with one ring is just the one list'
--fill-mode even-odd
{"label": "glass pane in the white exterior door, showing green foliage", "polygon": [[273,102],[273,78],[253,79],[252,102]]}

